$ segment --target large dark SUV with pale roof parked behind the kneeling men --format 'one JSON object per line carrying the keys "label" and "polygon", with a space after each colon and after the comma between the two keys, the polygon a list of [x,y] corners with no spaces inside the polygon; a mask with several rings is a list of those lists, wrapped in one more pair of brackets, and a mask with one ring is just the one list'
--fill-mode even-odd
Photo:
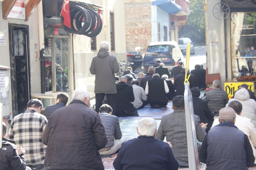
{"label": "large dark SUV with pale roof parked behind the kneeling men", "polygon": [[[149,67],[152,67],[154,64],[156,64],[157,60],[161,60],[161,62],[165,64],[165,67],[167,67],[169,71],[171,71],[172,67],[175,65],[175,61],[172,59],[173,48],[179,48],[176,41],[162,41],[150,43],[150,45],[147,47],[147,51],[143,59],[144,74],[147,73]],[[181,59],[179,61],[184,62],[182,52]]]}

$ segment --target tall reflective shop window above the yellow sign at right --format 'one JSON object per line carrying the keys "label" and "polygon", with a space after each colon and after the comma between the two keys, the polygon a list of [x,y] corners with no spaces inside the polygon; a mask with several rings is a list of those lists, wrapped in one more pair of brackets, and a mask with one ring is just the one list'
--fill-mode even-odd
{"label": "tall reflective shop window above the yellow sign at right", "polygon": [[231,13],[231,56],[233,78],[255,75],[256,13]]}

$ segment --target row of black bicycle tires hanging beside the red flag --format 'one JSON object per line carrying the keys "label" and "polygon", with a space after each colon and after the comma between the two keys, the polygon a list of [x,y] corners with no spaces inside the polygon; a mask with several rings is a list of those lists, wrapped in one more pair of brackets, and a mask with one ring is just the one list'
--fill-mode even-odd
{"label": "row of black bicycle tires hanging beside the red flag", "polygon": [[[67,32],[87,37],[96,37],[102,29],[100,15],[89,8],[78,5],[70,6],[71,29],[63,24],[64,18],[61,16],[61,25]],[[97,19],[97,26],[95,28]],[[95,29],[94,29],[95,28]]]}

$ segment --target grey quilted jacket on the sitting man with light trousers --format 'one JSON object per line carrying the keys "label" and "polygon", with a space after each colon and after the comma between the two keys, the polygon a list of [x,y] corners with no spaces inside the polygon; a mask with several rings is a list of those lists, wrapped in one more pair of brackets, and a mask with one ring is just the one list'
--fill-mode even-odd
{"label": "grey quilted jacket on the sitting man with light trousers", "polygon": [[100,113],[99,116],[108,138],[108,143],[105,148],[112,147],[114,146],[114,139],[118,140],[122,138],[118,117],[106,112]]}

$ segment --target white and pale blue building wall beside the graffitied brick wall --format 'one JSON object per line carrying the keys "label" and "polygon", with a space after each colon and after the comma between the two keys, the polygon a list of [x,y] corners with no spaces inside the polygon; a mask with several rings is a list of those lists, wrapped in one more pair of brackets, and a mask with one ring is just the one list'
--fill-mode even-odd
{"label": "white and pale blue building wall beside the graffitied brick wall", "polygon": [[164,30],[163,26],[167,27],[167,41],[169,41],[169,27],[170,27],[170,20],[169,20],[169,14],[165,11],[163,11],[161,8],[159,8],[157,5],[151,6],[151,23],[152,23],[152,35],[151,35],[151,41],[157,42],[158,41],[158,23],[160,23],[160,41],[163,41],[164,37]]}

